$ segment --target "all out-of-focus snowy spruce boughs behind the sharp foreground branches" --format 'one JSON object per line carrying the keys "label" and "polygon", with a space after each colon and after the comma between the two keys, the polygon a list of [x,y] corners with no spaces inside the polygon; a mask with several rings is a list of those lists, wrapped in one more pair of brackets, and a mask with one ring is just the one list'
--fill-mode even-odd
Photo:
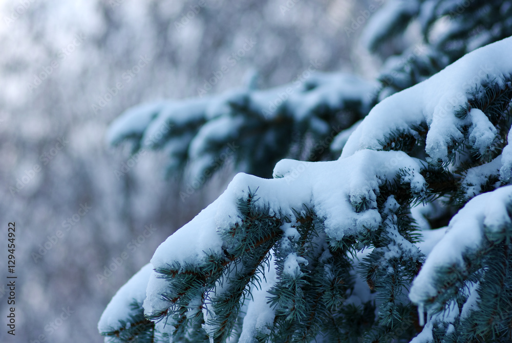
{"label": "all out-of-focus snowy spruce boughs behind the sharp foreground branches", "polygon": [[[114,145],[132,141],[134,152],[164,149],[169,156],[167,173],[185,174],[199,184],[226,161],[249,174],[270,177],[272,166],[282,158],[335,158],[339,141],[345,139],[338,135],[338,142],[329,146],[333,136],[350,132],[377,100],[512,35],[511,5],[509,0],[389,0],[369,18],[362,42],[378,51],[393,45],[396,36],[415,23],[424,44],[387,58],[378,82],[318,73],[266,90],[249,87],[216,97],[144,104],[116,120],[108,140]],[[436,27],[443,33],[431,34]]]}

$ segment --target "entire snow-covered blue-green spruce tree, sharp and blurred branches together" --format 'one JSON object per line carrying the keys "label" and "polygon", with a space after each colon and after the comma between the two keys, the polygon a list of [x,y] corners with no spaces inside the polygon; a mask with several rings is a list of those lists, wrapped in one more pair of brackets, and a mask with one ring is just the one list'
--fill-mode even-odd
{"label": "entire snow-covered blue-green spruce tree, sharp and blurred branches together", "polygon": [[118,291],[105,341],[512,341],[511,12],[390,1],[362,40],[385,53],[419,27],[423,44],[376,83],[124,113],[109,141],[164,149],[170,173],[207,179],[230,156],[247,174]]}

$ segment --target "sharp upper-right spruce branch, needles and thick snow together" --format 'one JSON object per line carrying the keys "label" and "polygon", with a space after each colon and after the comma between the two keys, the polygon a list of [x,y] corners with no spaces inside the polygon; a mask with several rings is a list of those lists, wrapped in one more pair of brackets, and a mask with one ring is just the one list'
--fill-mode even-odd
{"label": "sharp upper-right spruce branch, needles and thick snow together", "polygon": [[492,105],[503,103],[505,110],[512,97],[512,61],[506,57],[511,52],[511,38],[489,44],[380,102],[350,136],[341,157],[385,149],[397,135],[423,140],[433,163],[457,163],[455,152],[463,143],[482,158],[495,157],[509,118],[495,116]]}

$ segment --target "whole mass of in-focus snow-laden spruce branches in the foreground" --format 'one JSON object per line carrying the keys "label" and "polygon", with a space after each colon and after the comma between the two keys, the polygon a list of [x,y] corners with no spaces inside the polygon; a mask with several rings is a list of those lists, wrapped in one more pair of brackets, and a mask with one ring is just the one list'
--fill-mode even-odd
{"label": "whole mass of in-focus snow-laden spruce branches in the foreground", "polygon": [[512,38],[487,45],[383,100],[337,161],[238,174],[116,294],[100,331],[129,330],[143,309],[155,326],[136,337],[154,341],[410,340],[408,289],[429,252],[410,208],[443,197],[462,210],[412,283],[429,313],[415,340],[510,340],[510,53]]}

